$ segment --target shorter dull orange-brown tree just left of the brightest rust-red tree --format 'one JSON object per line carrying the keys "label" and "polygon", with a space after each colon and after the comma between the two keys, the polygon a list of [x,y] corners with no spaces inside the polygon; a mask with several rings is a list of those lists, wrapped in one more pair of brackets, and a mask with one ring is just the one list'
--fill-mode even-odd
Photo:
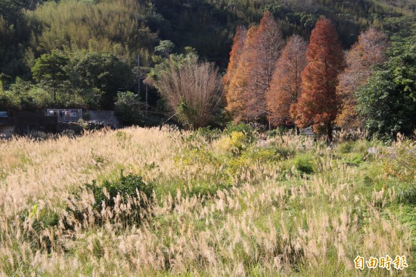
{"label": "shorter dull orange-brown tree just left of the brightest rust-red tree", "polygon": [[270,88],[266,92],[268,119],[273,126],[292,121],[290,108],[300,96],[300,74],[306,66],[307,44],[299,35],[293,35],[276,62]]}

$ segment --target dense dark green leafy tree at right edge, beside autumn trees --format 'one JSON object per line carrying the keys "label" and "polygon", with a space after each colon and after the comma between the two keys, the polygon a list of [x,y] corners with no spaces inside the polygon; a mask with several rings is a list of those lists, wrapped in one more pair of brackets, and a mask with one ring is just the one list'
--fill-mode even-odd
{"label": "dense dark green leafy tree at right edge, beside autumn trees", "polygon": [[[410,43],[411,42],[411,43]],[[357,92],[358,110],[370,135],[411,135],[416,129],[415,41],[397,47],[388,62]]]}

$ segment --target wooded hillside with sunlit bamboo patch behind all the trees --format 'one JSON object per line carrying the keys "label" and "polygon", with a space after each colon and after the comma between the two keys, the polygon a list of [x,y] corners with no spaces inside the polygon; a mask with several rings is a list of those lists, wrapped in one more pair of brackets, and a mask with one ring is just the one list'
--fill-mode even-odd
{"label": "wooded hillside with sunlit bamboo patch behind all the trees", "polygon": [[[412,1],[387,1],[414,9]],[[54,49],[114,53],[144,66],[159,40],[171,40],[175,51],[193,47],[203,58],[225,69],[236,26],[258,23],[265,10],[275,15],[287,37],[308,39],[320,15],[336,24],[343,47],[350,47],[367,26],[381,26],[386,17],[407,10],[381,1],[333,0],[116,0],[0,1],[0,70],[30,77],[33,60]]]}

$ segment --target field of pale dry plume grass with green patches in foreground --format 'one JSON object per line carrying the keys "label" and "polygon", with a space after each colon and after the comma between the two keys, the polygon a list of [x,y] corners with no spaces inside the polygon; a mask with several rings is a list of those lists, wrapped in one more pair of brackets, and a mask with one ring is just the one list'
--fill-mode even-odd
{"label": "field of pale dry plume grass with green patches in foreground", "polygon": [[416,276],[415,149],[237,128],[3,140],[0,275]]}

